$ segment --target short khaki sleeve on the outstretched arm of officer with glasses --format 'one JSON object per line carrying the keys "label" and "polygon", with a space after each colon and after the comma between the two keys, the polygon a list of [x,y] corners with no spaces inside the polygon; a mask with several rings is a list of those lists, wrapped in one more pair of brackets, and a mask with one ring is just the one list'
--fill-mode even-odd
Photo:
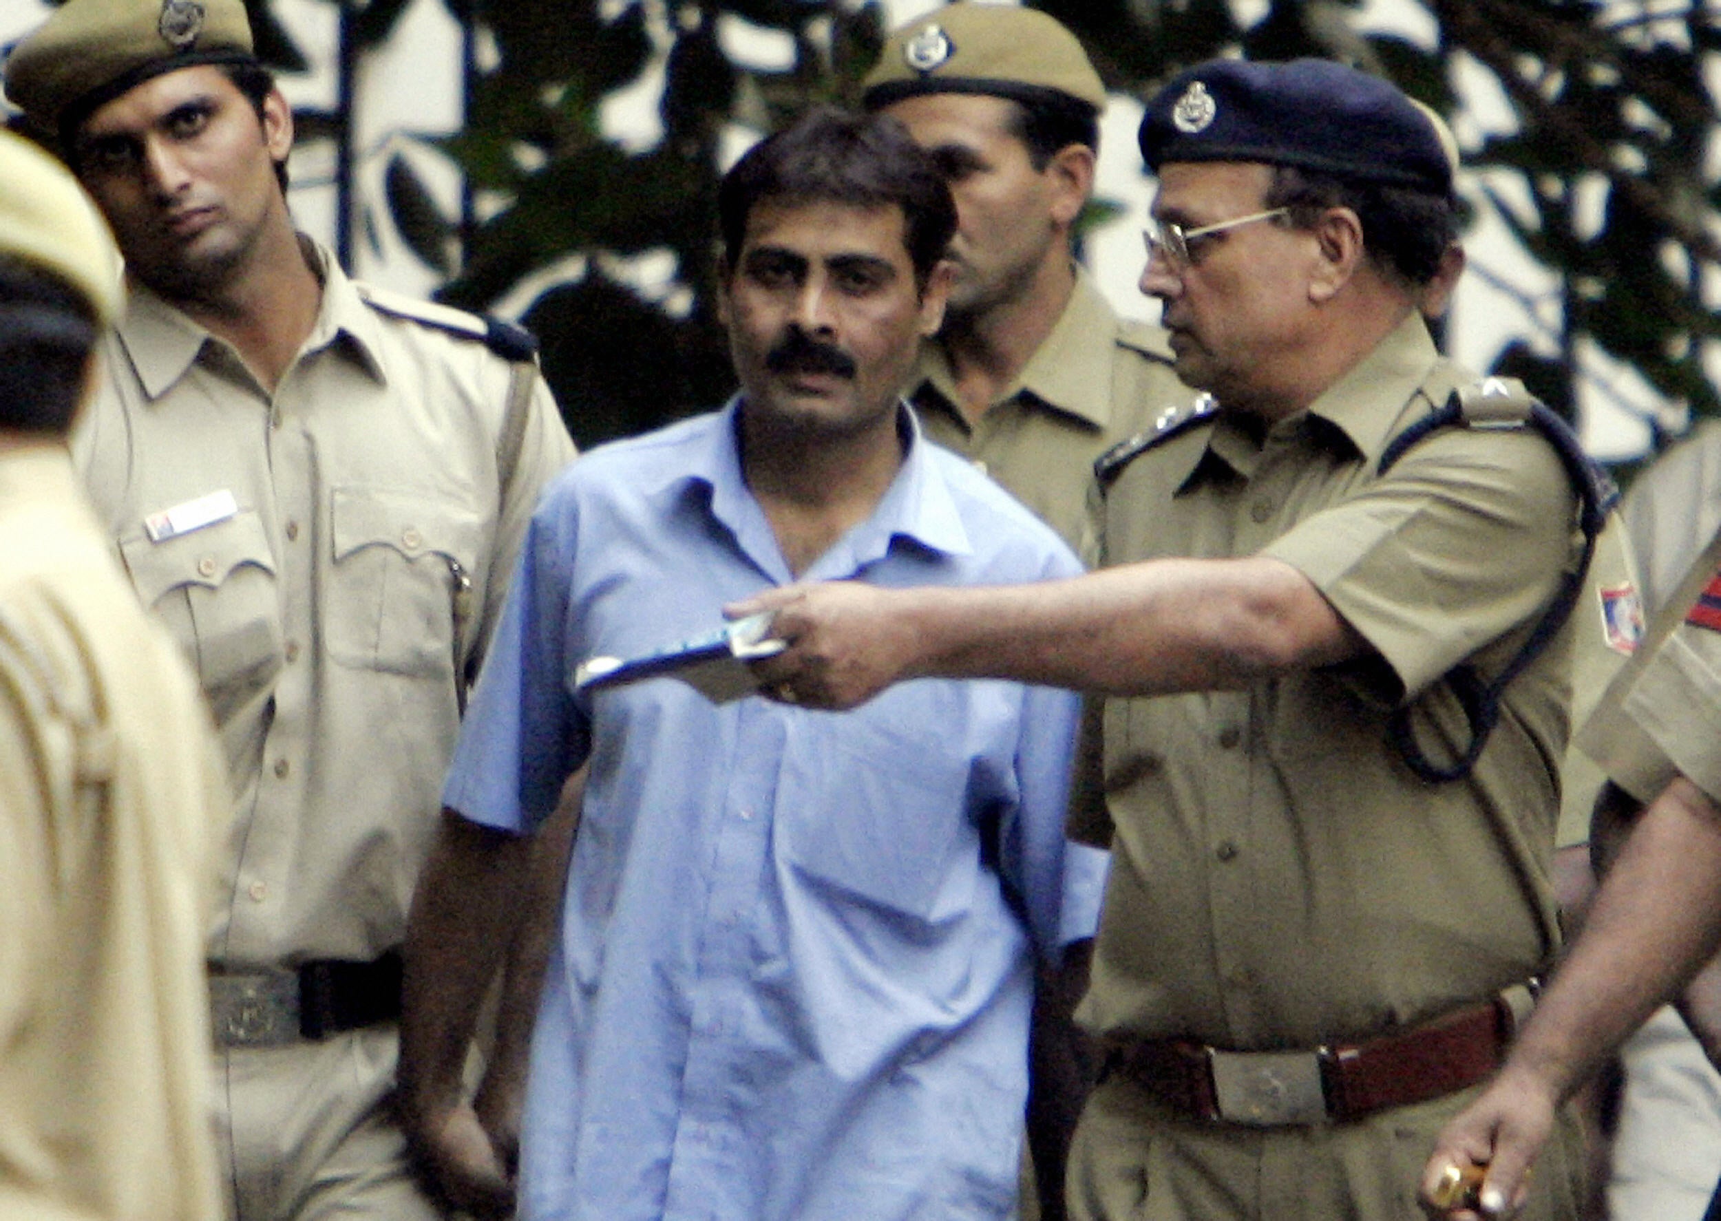
{"label": "short khaki sleeve on the outstretched arm of officer with glasses", "polygon": [[1575,494],[1533,430],[1434,433],[1385,478],[1261,554],[1301,571],[1409,700],[1549,604],[1571,562]]}

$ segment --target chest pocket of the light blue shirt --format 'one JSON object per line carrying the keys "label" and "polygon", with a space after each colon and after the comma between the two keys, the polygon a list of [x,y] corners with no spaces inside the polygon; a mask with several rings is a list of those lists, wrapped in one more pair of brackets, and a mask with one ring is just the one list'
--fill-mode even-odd
{"label": "chest pocket of the light blue shirt", "polygon": [[969,765],[938,741],[909,738],[878,703],[788,752],[778,827],[802,874],[936,923],[969,908],[979,870]]}

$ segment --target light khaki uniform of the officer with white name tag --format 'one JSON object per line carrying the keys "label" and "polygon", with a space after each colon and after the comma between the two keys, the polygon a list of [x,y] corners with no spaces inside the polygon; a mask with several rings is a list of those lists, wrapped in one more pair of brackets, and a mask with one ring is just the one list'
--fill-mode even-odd
{"label": "light khaki uniform of the officer with white name tag", "polygon": [[[208,939],[217,992],[399,948],[458,695],[539,490],[573,456],[534,373],[504,478],[511,363],[478,320],[367,294],[306,251],[322,306],[274,394],[133,285],[74,439],[225,746],[237,803]],[[301,1040],[244,1004],[217,1018],[237,1218],[435,1216],[389,1111],[392,1022]]]}

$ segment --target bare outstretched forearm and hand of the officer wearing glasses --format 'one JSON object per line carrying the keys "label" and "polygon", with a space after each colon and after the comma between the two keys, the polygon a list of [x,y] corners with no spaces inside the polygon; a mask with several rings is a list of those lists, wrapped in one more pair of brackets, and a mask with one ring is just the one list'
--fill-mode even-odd
{"label": "bare outstretched forearm and hand of the officer wearing glasses", "polygon": [[766,693],[826,709],[910,678],[1101,695],[1237,688],[1366,650],[1308,578],[1272,557],[1146,561],[1038,585],[795,585],[728,610],[774,610],[790,648],[756,664]]}

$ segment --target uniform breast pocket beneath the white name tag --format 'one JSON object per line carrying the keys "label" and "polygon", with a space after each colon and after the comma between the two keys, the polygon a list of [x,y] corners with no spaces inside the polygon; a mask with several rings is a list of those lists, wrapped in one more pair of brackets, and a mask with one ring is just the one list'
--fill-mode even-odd
{"label": "uniform breast pocket beneath the white name tag", "polygon": [[138,597],[191,659],[217,715],[281,669],[275,557],[255,511],[177,538],[122,538]]}

